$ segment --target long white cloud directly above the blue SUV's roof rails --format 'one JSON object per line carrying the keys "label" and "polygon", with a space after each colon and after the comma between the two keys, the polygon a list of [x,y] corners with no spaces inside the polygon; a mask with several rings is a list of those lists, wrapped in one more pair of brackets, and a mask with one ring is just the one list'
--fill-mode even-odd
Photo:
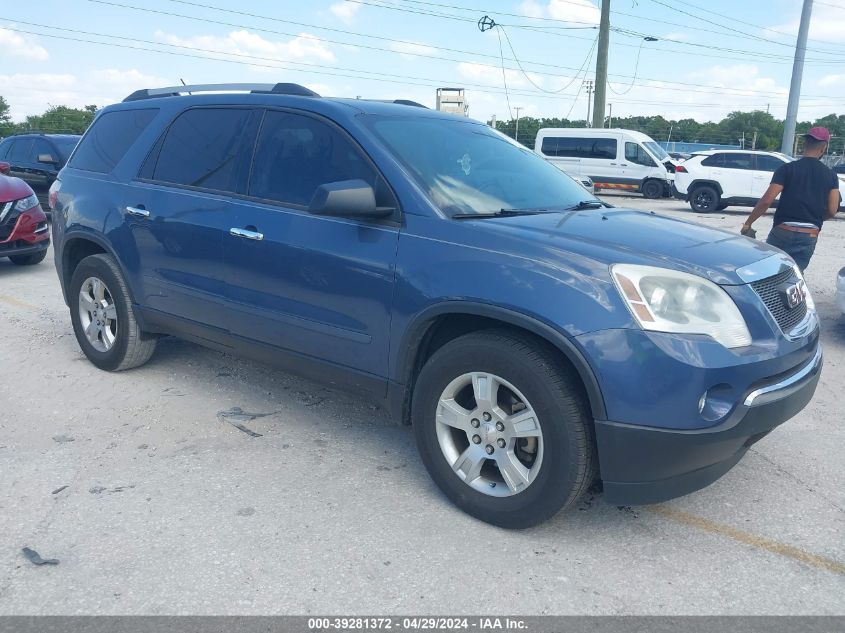
{"label": "long white cloud directly above the blue SUV's roof rails", "polygon": [[[291,40],[268,40],[257,33],[241,29],[232,31],[224,37],[216,35],[197,35],[182,38],[177,35],[156,31],[157,40],[174,46],[201,49],[200,54],[215,56],[215,54],[230,54],[252,56],[255,59],[251,67],[254,70],[278,72],[278,69],[267,68],[267,63],[304,61],[304,62],[332,62],[334,53],[319,37],[308,33],[300,33]],[[249,64],[250,60],[243,59]],[[263,65],[263,66],[262,66]]]}

